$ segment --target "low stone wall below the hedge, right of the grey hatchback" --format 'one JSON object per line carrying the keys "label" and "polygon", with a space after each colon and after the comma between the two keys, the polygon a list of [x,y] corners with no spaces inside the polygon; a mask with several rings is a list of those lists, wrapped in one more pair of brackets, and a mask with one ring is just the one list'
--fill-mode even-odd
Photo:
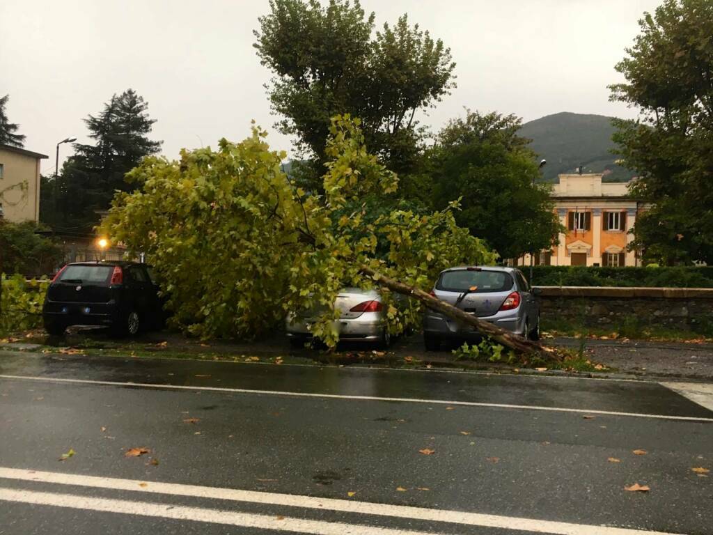
{"label": "low stone wall below the hedge, right of the grey hatchback", "polygon": [[540,286],[543,320],[590,327],[631,322],[697,330],[713,323],[713,288]]}

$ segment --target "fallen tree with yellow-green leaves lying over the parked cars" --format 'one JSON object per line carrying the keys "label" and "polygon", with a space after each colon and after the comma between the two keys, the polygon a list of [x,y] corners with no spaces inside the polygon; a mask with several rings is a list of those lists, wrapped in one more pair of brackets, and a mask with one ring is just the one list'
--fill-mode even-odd
{"label": "fallen tree with yellow-green leaves lying over the parked cars", "polygon": [[456,225],[457,203],[423,213],[391,199],[398,178],[366,151],[358,120],[332,121],[323,197],[294,188],[284,154],[264,138],[253,128],[217,151],[146,158],[128,175],[140,188],[113,202],[104,230],[148,255],[176,325],[201,337],[250,337],[287,312],[321,310],[312,332],[334,347],[337,294],[376,283],[411,297],[384,292],[391,332],[415,325],[426,304],[515,351],[557,358],[423,291],[441,270],[488,265],[497,254]]}

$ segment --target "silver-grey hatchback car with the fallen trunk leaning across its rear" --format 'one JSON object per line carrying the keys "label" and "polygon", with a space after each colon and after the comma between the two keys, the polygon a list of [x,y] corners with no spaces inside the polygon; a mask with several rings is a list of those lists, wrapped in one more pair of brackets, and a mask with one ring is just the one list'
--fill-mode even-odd
{"label": "silver-grey hatchback car with the fallen trunk leaning across its rear", "polygon": [[[540,337],[540,310],[525,276],[513,267],[453,267],[441,271],[431,295],[517,335]],[[436,312],[424,314],[424,344],[436,351],[443,340],[478,337],[469,325]]]}

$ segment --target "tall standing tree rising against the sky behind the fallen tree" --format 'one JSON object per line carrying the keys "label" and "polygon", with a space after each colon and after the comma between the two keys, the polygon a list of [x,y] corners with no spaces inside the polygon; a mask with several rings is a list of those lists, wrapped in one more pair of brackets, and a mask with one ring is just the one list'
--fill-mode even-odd
{"label": "tall standing tree rising against the sky behind the fallen tree", "polygon": [[270,0],[255,31],[257,55],[275,75],[268,91],[284,117],[277,126],[314,158],[314,177],[324,173],[329,121],[340,113],[361,119],[366,143],[390,169],[410,170],[419,111],[455,87],[455,63],[440,39],[406,15],[375,32],[374,18],[358,0]]}

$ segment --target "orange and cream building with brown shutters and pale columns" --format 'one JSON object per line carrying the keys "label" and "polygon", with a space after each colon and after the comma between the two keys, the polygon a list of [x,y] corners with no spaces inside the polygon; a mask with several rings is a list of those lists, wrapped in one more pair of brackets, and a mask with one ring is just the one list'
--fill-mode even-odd
{"label": "orange and cream building with brown shutters and pale columns", "polygon": [[[560,175],[552,197],[566,229],[559,245],[535,255],[535,265],[640,265],[636,251],[627,250],[637,215],[645,207],[629,196],[630,183],[602,183],[603,175]],[[520,260],[530,265],[530,255]]]}

